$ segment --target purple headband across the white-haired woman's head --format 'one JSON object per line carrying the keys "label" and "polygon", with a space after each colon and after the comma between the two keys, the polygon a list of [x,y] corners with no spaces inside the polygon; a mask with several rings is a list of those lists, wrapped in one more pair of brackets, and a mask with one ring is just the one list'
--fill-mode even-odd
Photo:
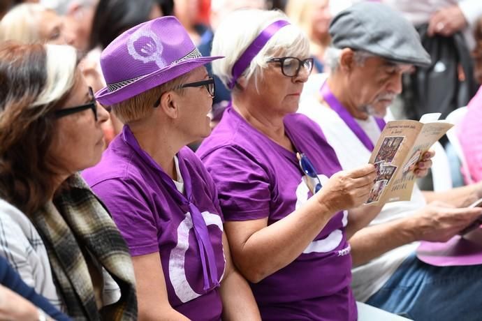
{"label": "purple headband across the white-haired woman's head", "polygon": [[246,50],[244,50],[238,61],[235,62],[233,70],[231,71],[233,77],[231,77],[231,81],[228,83],[229,89],[234,88],[240,75],[246,70],[246,68],[248,68],[249,64],[251,64],[251,60],[253,60],[253,58],[256,57],[256,54],[263,49],[265,44],[268,43],[268,40],[270,40],[279,29],[282,29],[282,27],[288,24],[290,23],[286,20],[277,20],[261,31]]}

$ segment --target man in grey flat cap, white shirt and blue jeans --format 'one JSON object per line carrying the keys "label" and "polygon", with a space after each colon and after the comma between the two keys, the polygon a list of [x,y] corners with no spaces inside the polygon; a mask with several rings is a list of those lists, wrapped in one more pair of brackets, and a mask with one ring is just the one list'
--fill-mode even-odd
{"label": "man in grey flat cap, white shirt and blue jeans", "polygon": [[[381,3],[342,11],[330,35],[331,73],[310,77],[300,112],[321,126],[349,170],[368,162],[386,109],[402,91],[402,73],[430,64],[430,57],[414,27]],[[430,167],[431,157],[425,153],[415,174]],[[447,241],[472,223],[480,211],[462,207],[480,197],[481,184],[444,193],[415,186],[409,202],[388,203],[377,214],[362,211],[362,221],[373,220],[350,239],[356,299],[414,320],[480,320],[480,265],[437,267],[416,257],[420,241]]]}

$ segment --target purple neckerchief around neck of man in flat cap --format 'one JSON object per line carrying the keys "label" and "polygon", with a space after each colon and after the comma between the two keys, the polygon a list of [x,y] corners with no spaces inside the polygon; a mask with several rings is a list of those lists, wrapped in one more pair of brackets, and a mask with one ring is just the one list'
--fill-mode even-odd
{"label": "purple neckerchief around neck of man in flat cap", "polygon": [[[360,124],[356,122],[353,116],[351,116],[348,110],[346,110],[344,105],[342,105],[335,95],[333,95],[333,92],[330,91],[330,88],[328,87],[328,82],[324,82],[321,85],[320,95],[323,97],[323,100],[330,105],[331,109],[334,110],[341,119],[343,119],[346,126],[351,129],[356,137],[358,137],[360,142],[362,142],[369,151],[373,151],[375,147],[373,146],[372,140],[370,140],[370,137],[368,137],[367,133],[365,133],[365,130],[360,127]],[[378,117],[373,118],[375,121],[377,121],[377,125],[379,126],[380,130],[384,130],[386,125],[384,119]]]}

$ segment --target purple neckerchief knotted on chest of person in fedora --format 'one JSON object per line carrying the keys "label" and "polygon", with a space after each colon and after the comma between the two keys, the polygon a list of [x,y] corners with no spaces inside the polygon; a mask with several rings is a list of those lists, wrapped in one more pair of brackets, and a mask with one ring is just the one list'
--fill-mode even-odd
{"label": "purple neckerchief knotted on chest of person in fedora", "polygon": [[124,140],[126,144],[128,144],[134,151],[136,151],[140,158],[142,158],[147,164],[153,167],[156,172],[159,173],[163,183],[165,183],[169,187],[167,189],[170,193],[170,196],[177,200],[178,203],[182,203],[189,207],[189,211],[191,212],[191,218],[194,225],[194,234],[196,235],[196,240],[198,241],[201,264],[203,265],[204,290],[207,291],[211,288],[207,272],[208,267],[210,271],[211,281],[214,285],[213,288],[216,288],[219,285],[219,282],[216,260],[214,257],[214,250],[212,248],[209,232],[207,231],[207,226],[204,221],[203,214],[200,213],[198,207],[196,207],[196,205],[193,203],[191,178],[189,177],[189,173],[184,171],[184,159],[182,157],[178,157],[179,168],[181,171],[182,179],[184,181],[186,196],[184,196],[182,193],[180,193],[180,191],[177,190],[173,179],[171,179],[169,175],[166,174],[166,172],[164,172],[163,169],[152,159],[152,157],[149,156],[149,154],[147,154],[139,146],[136,137],[134,137],[131,129],[127,125],[125,125],[124,129],[122,130],[122,140]]}

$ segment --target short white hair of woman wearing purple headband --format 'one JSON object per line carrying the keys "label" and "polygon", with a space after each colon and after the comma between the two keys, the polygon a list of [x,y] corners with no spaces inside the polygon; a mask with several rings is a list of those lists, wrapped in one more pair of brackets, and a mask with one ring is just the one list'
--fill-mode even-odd
{"label": "short white hair of woman wearing purple headband", "polygon": [[[227,86],[231,81],[233,66],[244,50],[263,29],[277,20],[288,20],[288,17],[277,10],[251,9],[235,11],[227,15],[221,22],[214,34],[211,54],[226,57],[212,62],[214,74],[221,79],[224,85]],[[300,58],[309,56],[309,40],[300,27],[289,24],[279,29],[263,49],[256,54],[241,76],[248,81],[254,79],[257,88],[257,80],[263,76],[263,68],[268,66],[266,61],[275,55]],[[233,94],[235,92],[234,90]]]}

